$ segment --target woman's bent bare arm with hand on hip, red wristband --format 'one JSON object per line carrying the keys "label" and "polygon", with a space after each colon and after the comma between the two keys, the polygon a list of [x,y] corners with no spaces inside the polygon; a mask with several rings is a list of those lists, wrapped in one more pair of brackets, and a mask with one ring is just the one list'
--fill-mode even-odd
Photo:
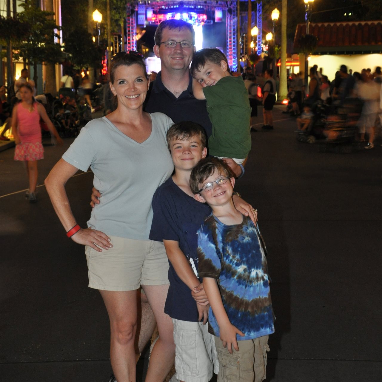
{"label": "woman's bent bare arm with hand on hip, red wristband", "polygon": [[[78,168],[60,159],[50,171],[45,179],[45,186],[53,204],[53,208],[60,219],[65,231],[69,231],[77,223],[71,212],[68,196],[66,195],[65,184],[78,171]],[[101,248],[109,249],[112,245],[110,238],[101,231],[91,230],[90,228],[81,229],[76,232],[71,239],[78,244],[88,245],[98,252]],[[99,248],[101,247],[101,248]]]}

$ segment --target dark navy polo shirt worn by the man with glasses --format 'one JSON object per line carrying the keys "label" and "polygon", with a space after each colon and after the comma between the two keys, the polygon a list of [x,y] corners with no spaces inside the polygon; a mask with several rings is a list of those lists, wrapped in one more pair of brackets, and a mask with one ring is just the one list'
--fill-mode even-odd
{"label": "dark navy polo shirt worn by the man with glasses", "polygon": [[206,130],[207,137],[212,134],[212,124],[207,114],[207,103],[198,100],[192,92],[192,77],[189,74],[189,84],[178,98],[172,94],[162,83],[161,72],[150,86],[144,110],[148,113],[160,112],[167,114],[175,123],[193,121],[199,123]]}

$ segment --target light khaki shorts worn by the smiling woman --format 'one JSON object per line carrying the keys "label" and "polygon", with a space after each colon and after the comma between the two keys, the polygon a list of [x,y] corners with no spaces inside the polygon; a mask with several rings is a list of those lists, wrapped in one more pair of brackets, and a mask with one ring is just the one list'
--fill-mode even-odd
{"label": "light khaki shorts worn by the smiling woman", "polygon": [[90,288],[128,291],[141,285],[168,284],[168,260],[163,243],[109,237],[113,248],[98,252],[85,247]]}

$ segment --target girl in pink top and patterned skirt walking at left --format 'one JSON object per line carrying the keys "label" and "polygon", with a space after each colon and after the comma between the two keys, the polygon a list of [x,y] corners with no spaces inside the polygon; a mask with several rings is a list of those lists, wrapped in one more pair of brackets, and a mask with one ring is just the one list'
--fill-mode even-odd
{"label": "girl in pink top and patterned skirt walking at left", "polygon": [[21,102],[16,104],[12,112],[12,131],[15,137],[15,160],[23,160],[29,180],[27,193],[29,202],[36,202],[37,160],[44,159],[44,148],[41,142],[40,117],[44,120],[49,131],[55,136],[57,144],[62,139],[50,121],[44,106],[33,98],[30,84],[20,86]]}

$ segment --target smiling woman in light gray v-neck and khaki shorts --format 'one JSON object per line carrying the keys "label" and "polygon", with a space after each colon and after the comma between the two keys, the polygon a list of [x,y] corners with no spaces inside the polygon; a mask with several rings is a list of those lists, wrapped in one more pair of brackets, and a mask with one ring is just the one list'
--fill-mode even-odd
{"label": "smiling woman in light gray v-neck and khaki shorts", "polygon": [[[117,109],[89,122],[45,180],[67,235],[86,245],[89,286],[99,289],[110,319],[110,359],[118,382],[135,381],[139,286],[159,330],[146,381],[165,379],[175,356],[172,321],[163,309],[167,256],[163,243],[148,240],[152,196],[173,171],[165,139],[172,120],[162,113],[143,112],[148,88],[142,56],[117,53],[110,65]],[[102,203],[92,210],[89,228],[81,229],[71,212],[65,183],[78,169],[86,171],[89,166]]]}

